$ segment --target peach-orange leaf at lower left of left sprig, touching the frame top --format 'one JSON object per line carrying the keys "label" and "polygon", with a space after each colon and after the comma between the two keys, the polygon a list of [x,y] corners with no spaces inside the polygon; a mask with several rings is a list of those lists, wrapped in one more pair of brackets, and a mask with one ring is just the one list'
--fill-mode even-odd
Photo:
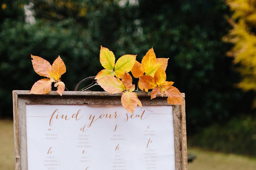
{"label": "peach-orange leaf at lower left of left sprig, touching the frame top", "polygon": [[51,91],[51,81],[50,79],[41,79],[35,82],[32,86],[29,94],[46,94]]}

